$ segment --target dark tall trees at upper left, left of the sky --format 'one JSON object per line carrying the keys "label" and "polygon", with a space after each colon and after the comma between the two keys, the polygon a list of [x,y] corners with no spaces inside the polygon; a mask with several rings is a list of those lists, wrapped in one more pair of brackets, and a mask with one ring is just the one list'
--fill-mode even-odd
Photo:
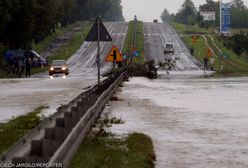
{"label": "dark tall trees at upper left, left of the sky", "polygon": [[101,16],[123,19],[121,0],[0,0],[0,43],[8,48],[27,48],[78,20]]}

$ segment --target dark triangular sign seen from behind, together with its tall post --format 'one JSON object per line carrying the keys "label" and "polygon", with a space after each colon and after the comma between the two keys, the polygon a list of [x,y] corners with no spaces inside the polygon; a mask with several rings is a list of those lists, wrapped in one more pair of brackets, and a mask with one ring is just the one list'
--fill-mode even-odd
{"label": "dark triangular sign seen from behind, together with its tall post", "polygon": [[96,63],[97,63],[97,76],[98,76],[98,84],[100,84],[100,42],[101,41],[112,41],[111,36],[109,35],[107,29],[103,25],[101,18],[97,17],[94,25],[90,29],[89,34],[86,37],[85,41],[90,42],[97,42],[97,56],[96,56]]}

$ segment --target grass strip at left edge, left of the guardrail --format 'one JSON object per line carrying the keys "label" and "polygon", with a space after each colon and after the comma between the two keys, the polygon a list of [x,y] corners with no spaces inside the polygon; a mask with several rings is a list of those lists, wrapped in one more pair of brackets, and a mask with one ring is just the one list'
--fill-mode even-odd
{"label": "grass strip at left edge, left of the guardrail", "polygon": [[0,154],[41,123],[39,114],[45,108],[48,107],[40,106],[26,115],[13,118],[7,123],[0,123]]}

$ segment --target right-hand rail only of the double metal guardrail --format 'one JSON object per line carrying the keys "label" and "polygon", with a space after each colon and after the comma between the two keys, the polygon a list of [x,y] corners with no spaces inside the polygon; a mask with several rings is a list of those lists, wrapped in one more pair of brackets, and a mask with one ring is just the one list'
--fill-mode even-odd
{"label": "right-hand rail only of the double metal guardrail", "polygon": [[121,83],[124,75],[125,73],[123,73],[107,90],[105,90],[97,99],[96,103],[88,109],[78,124],[73,128],[71,133],[67,136],[63,144],[55,152],[49,163],[63,162],[64,167],[69,165],[69,162],[77,151],[80,143],[87,135],[91,125],[94,124],[106,102],[110,99],[112,94]]}

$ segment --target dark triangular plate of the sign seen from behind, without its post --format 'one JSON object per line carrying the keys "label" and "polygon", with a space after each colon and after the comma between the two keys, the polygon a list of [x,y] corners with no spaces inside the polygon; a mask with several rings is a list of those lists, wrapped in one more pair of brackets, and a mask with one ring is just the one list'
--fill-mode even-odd
{"label": "dark triangular plate of the sign seen from behind, without its post", "polygon": [[[104,26],[103,23],[99,23],[99,28],[100,28],[100,41],[112,41],[111,36],[109,35],[106,27]],[[98,23],[94,23],[92,28],[90,29],[89,34],[87,35],[85,41],[97,41],[98,40]]]}

